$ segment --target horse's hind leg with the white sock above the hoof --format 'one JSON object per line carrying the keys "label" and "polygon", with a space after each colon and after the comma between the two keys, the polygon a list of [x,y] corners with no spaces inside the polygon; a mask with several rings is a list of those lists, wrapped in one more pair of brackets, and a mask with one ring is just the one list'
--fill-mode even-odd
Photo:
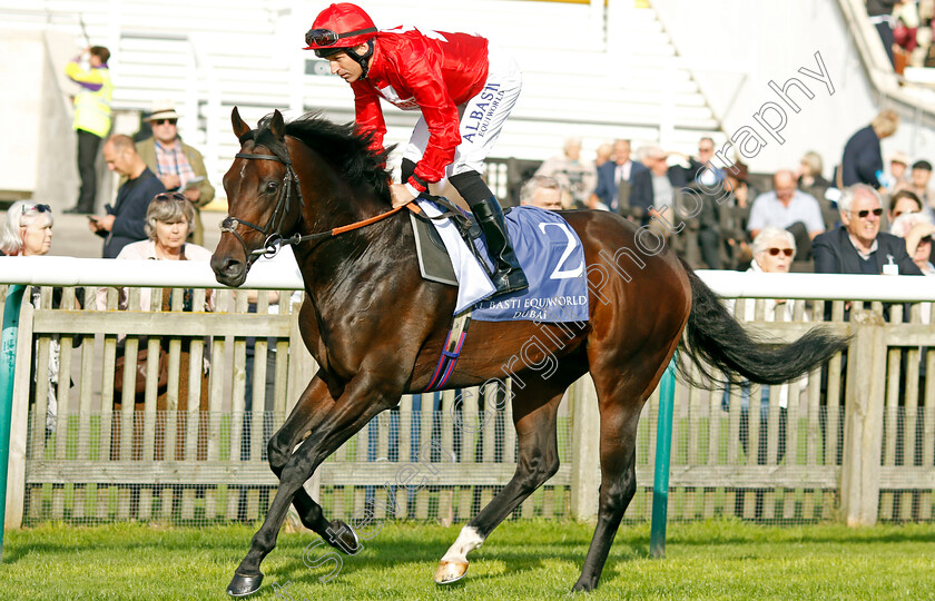
{"label": "horse's hind leg with the white sock above the hoof", "polygon": [[[538,380],[538,378],[537,378]],[[545,384],[545,385],[543,385]],[[506,519],[535,489],[559,470],[555,415],[564,386],[529,382],[513,398],[513,423],[516,427],[516,471],[512,480],[471,522],[442,558],[435,582],[447,584],[468,572],[468,553],[483,544],[488,535]]]}

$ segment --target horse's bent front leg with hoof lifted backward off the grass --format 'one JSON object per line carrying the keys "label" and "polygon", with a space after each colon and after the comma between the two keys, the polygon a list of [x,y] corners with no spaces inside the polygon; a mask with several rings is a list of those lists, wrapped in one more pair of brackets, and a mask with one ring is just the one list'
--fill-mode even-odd
{"label": "horse's bent front leg with hoof lifted backward off the grass", "polygon": [[[321,414],[321,403],[323,402],[331,404],[334,403],[334,400],[327,384],[319,375],[316,375],[306,386],[283,426],[269,439],[267,445],[269,467],[279,480],[282,480],[283,469],[292,456],[295,446],[314,426],[316,417],[319,420],[323,417]],[[302,524],[322,536],[332,546],[345,553],[348,549],[357,548],[358,541],[354,531],[341,520],[329,522],[325,518],[322,506],[308,495],[304,487],[296,491],[293,505],[298,512]],[[335,532],[339,534],[335,536]]]}

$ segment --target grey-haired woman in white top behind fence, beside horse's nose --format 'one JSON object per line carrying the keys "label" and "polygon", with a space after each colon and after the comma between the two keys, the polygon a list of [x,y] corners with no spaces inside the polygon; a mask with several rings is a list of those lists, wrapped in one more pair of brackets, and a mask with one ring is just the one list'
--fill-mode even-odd
{"label": "grey-haired woman in white top behind fence, beside horse's nose", "polygon": [[[132,147],[132,145],[130,145]],[[155,176],[154,176],[155,177]],[[132,180],[131,180],[132,181]],[[158,180],[157,180],[158,181]],[[208,263],[211,258],[211,252],[203,246],[198,246],[195,244],[189,244],[186,242],[188,238],[188,233],[191,229],[193,221],[195,219],[195,208],[191,206],[191,203],[179,193],[169,193],[169,194],[159,194],[152,201],[148,204],[145,214],[145,230],[147,239],[139,240],[136,243],[127,244],[120,250],[119,255],[116,258],[118,259],[127,259],[127,260],[199,260]],[[158,289],[157,289],[158,290]],[[161,309],[163,311],[170,311],[173,305],[171,295],[176,290],[165,289],[163,290],[161,297]],[[120,299],[119,299],[119,309],[127,309],[132,308],[136,311],[136,307],[128,307],[128,296],[127,292],[124,288],[119,290]],[[214,309],[214,296],[208,290],[208,294],[205,296],[205,305],[200,307],[194,306],[194,290],[191,288],[186,288],[183,292],[183,309],[184,311],[213,311]],[[151,288],[141,288],[140,289],[140,298],[139,298],[139,311],[147,312],[151,311],[152,305],[152,289]],[[101,288],[98,290],[97,295],[97,307],[98,311],[104,311],[107,308],[107,288]],[[126,338],[122,338],[120,343],[118,343],[119,348],[118,353],[119,356],[122,356],[122,348]],[[161,351],[160,355],[164,352],[168,352],[168,338],[163,338],[161,341]],[[190,364],[190,337],[183,337],[181,338],[181,349],[179,352],[179,372],[178,372],[178,404],[177,404],[177,428],[176,428],[176,450],[175,456],[184,457],[185,456],[185,446],[186,446],[186,432],[187,432],[187,411],[188,411],[188,396],[189,396],[189,382],[190,382],[190,371],[198,370],[201,372],[200,378],[200,411],[204,415],[205,412],[208,411],[208,359],[207,357],[203,358],[200,365],[191,365]],[[146,342],[144,339],[140,341],[140,349],[147,348]],[[146,357],[140,355],[139,359],[142,361],[150,361],[148,354]],[[151,361],[156,361],[155,357]],[[160,363],[163,359],[159,359]],[[115,408],[118,408],[122,403],[122,396],[115,395],[114,405]],[[173,408],[176,408],[173,407]],[[145,408],[145,403],[142,395],[137,395],[135,397],[135,417],[134,417],[134,435],[132,435],[132,459],[139,461],[142,459],[142,411]],[[165,427],[166,427],[166,414],[165,412],[170,408],[168,405],[168,392],[167,390],[159,388],[158,390],[158,397],[156,400],[156,411],[159,412],[157,415],[157,423],[156,423],[156,449],[154,451],[154,457],[156,461],[159,461],[165,457]],[[119,457],[119,421],[115,422],[115,436],[112,437],[114,443],[111,444],[111,457]],[[196,456],[199,460],[204,460],[207,452],[207,422],[199,421],[198,427],[198,444]],[[127,459],[127,457],[124,457]]]}

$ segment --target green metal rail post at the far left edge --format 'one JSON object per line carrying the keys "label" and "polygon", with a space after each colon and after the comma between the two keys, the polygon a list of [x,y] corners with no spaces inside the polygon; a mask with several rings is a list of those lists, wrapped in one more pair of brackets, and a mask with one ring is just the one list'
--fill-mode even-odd
{"label": "green metal rail post at the far left edge", "polygon": [[10,421],[13,417],[13,372],[17,368],[19,312],[26,286],[10,286],[3,308],[0,339],[0,561],[3,561],[3,529],[7,522],[7,465],[10,462]]}

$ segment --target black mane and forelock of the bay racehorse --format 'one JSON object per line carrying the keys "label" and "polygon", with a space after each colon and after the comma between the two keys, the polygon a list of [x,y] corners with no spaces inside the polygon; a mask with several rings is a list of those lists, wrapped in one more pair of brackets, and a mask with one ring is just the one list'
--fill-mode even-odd
{"label": "black mane and forelock of the bay racehorse", "polygon": [[[285,154],[269,131],[273,117],[267,115],[257,124],[257,145],[275,154]],[[286,135],[298,138],[337,168],[351,186],[367,186],[377,198],[390,203],[390,173],[384,167],[390,149],[374,152],[370,149],[373,135],[361,134],[354,122],[334,124],[318,112],[306,112],[286,124]]]}

